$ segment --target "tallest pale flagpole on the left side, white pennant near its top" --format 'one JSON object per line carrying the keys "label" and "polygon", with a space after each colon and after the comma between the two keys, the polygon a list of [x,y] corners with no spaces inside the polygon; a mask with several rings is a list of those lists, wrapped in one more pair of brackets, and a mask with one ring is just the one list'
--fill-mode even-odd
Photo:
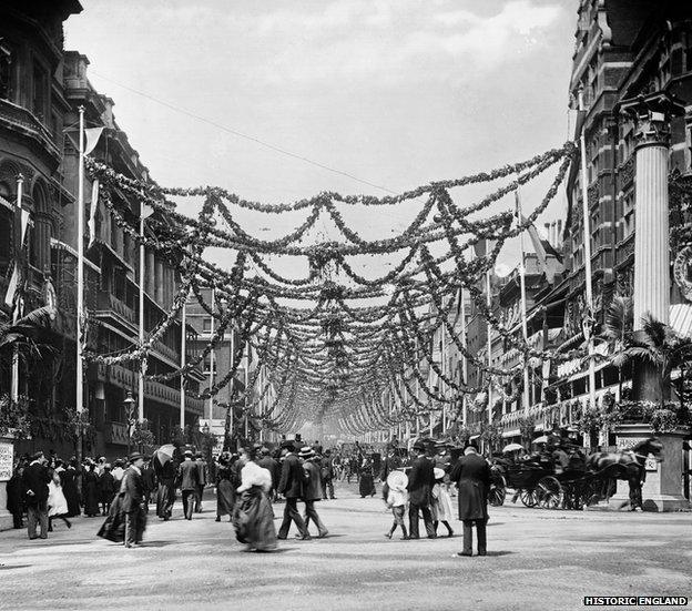
{"label": "tallest pale flagpole on the left side, white pennant near its top", "polygon": [[77,460],[82,462],[82,425],[81,415],[84,411],[84,106],[79,106],[79,167],[77,185],[77,413],[80,424],[77,431]]}

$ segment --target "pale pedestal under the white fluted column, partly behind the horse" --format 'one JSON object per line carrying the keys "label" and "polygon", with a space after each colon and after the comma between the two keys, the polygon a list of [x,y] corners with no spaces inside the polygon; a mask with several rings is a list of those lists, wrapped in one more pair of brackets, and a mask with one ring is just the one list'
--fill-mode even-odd
{"label": "pale pedestal under the white fluted column, partly behind the horse", "polygon": [[[642,485],[644,511],[690,511],[690,501],[682,493],[682,441],[690,435],[686,427],[670,432],[653,432],[647,424],[620,424],[614,427],[619,449],[631,448],[639,441],[657,437],[663,444],[662,462],[647,462],[647,479]],[[610,507],[618,509],[630,499],[627,481],[618,481],[618,491]]]}

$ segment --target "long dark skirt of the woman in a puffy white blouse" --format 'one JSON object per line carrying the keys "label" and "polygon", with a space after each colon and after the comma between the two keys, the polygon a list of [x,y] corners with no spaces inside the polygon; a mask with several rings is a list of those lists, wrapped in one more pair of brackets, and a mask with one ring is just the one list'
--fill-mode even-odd
{"label": "long dark skirt of the woman in a puffy white blouse", "polygon": [[233,511],[235,538],[257,551],[276,549],[274,512],[266,493],[258,486],[245,490]]}

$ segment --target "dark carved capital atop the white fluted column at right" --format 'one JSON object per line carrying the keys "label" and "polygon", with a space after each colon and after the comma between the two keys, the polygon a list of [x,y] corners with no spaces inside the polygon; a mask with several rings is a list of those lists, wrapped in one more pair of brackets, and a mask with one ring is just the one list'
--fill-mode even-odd
{"label": "dark carved capital atop the white fluted column at right", "polygon": [[638,95],[618,104],[618,112],[634,121],[637,146],[668,146],[670,120],[684,115],[684,105],[664,92]]}

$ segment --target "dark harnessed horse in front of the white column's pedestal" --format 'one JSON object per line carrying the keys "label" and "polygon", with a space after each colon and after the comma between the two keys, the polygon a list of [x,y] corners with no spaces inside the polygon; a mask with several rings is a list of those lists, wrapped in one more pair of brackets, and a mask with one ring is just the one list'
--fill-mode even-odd
{"label": "dark harnessed horse in front of the white column's pedestal", "polygon": [[[630,486],[630,511],[635,511],[638,507],[643,511],[641,487],[647,478],[644,465],[650,454],[661,462],[662,449],[663,444],[655,437],[650,437],[628,450],[593,452],[587,458],[587,470],[591,473],[606,472],[609,478],[627,481]],[[608,498],[610,498],[609,492],[607,492]]]}

